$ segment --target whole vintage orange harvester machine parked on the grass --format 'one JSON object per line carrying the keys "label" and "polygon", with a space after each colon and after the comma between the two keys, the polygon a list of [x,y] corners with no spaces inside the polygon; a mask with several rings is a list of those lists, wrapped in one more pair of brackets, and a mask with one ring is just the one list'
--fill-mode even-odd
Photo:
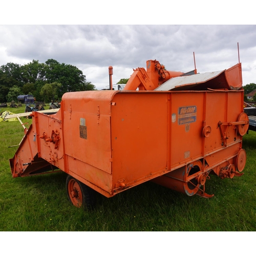
{"label": "whole vintage orange harvester machine parked on the grass", "polygon": [[91,205],[93,190],[112,197],[149,180],[208,198],[209,174],[241,176],[249,126],[241,63],[203,74],[146,65],[123,91],[66,93],[56,114],[31,114],[12,176],[60,169],[77,207]]}

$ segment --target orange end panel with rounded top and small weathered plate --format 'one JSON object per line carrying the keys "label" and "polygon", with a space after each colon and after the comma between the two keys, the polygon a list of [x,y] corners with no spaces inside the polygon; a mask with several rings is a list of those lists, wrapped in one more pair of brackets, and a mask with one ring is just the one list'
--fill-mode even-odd
{"label": "orange end panel with rounded top and small weathered plate", "polygon": [[[116,92],[63,95],[65,154],[111,174],[111,105]],[[62,108],[62,105],[61,105]]]}

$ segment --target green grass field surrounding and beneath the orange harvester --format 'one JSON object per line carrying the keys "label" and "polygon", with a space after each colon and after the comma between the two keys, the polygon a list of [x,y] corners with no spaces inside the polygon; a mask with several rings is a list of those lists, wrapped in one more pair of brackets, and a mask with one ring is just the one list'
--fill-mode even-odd
{"label": "green grass field surrounding and beneath the orange harvester", "polygon": [[97,207],[84,211],[68,201],[63,172],[13,179],[9,159],[17,147],[8,146],[17,145],[24,131],[18,121],[0,122],[0,131],[0,231],[256,231],[255,132],[243,138],[244,175],[206,182],[213,198],[146,182],[109,199],[98,194]]}

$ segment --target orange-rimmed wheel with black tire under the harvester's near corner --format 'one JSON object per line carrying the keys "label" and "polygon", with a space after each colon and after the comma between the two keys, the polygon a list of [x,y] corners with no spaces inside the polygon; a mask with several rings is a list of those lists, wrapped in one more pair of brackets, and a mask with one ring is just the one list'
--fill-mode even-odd
{"label": "orange-rimmed wheel with black tire under the harvester's near corner", "polygon": [[67,177],[66,189],[69,201],[77,208],[94,206],[94,190],[70,175]]}

